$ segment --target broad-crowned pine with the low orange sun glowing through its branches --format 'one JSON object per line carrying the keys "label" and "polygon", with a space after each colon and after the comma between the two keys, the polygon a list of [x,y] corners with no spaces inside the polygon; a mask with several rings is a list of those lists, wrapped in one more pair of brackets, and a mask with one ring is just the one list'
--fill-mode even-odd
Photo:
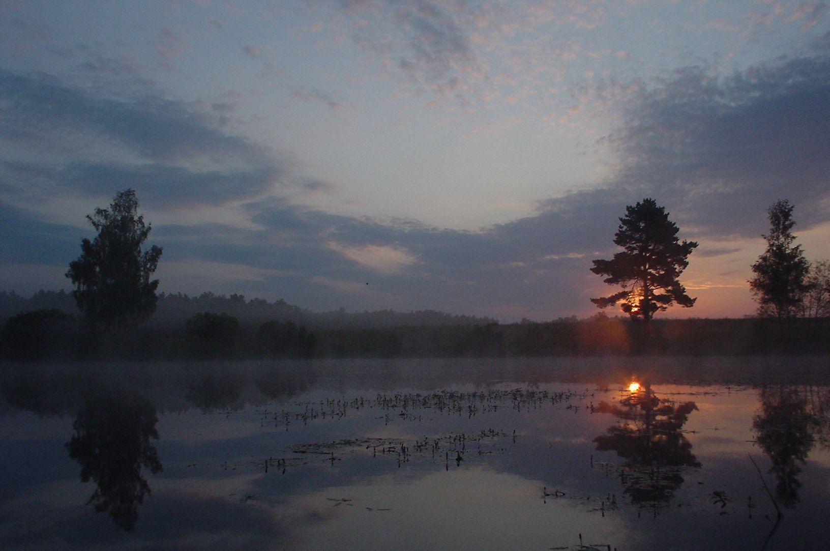
{"label": "broad-crowned pine with the low orange sun glowing through its branches", "polygon": [[643,199],[626,207],[625,217],[614,234],[614,244],[623,247],[613,259],[593,261],[591,271],[608,275],[608,285],[622,285],[613,295],[591,299],[599,308],[622,301],[622,310],[632,319],[650,321],[657,311],[677,303],[691,307],[696,299],[686,295],[678,277],[689,266],[695,241],[679,241],[678,227],[654,199]]}

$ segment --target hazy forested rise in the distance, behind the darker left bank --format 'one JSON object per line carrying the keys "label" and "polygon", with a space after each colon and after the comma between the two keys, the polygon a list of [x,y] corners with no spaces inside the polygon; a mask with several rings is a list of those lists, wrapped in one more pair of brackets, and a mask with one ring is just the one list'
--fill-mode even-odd
{"label": "hazy forested rise in the distance, behind the darker left bank", "polygon": [[[53,308],[68,314],[81,314],[71,293],[63,290],[40,290],[30,298],[13,292],[0,291],[0,324],[21,312]],[[285,300],[268,302],[263,299],[246,299],[244,295],[226,296],[206,292],[198,296],[188,296],[182,293],[159,294],[159,304],[147,325],[166,329],[183,329],[188,318],[202,312],[235,316],[242,326],[258,326],[266,321],[276,320],[291,321],[305,325],[309,329],[383,329],[401,326],[432,327],[496,322],[496,319],[452,315],[437,310],[347,312],[341,308],[330,312],[312,312],[299,306],[289,305]]]}

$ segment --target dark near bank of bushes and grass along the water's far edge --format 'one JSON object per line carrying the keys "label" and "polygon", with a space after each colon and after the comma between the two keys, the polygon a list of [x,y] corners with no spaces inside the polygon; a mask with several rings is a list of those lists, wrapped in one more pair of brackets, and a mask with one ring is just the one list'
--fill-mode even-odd
{"label": "dark near bank of bushes and grass along the water's far edge", "polygon": [[183,327],[144,326],[129,338],[90,334],[76,316],[35,310],[7,321],[0,357],[12,360],[272,358],[525,358],[630,355],[830,354],[830,319],[588,319],[471,325],[309,329],[292,321],[240,324],[203,312]]}

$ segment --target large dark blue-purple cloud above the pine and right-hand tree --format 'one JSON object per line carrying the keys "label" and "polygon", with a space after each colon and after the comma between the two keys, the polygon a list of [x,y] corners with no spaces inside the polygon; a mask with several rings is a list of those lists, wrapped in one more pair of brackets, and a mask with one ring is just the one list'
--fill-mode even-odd
{"label": "large dark blue-purple cloud above the pine and right-hand tree", "polygon": [[686,67],[642,90],[612,134],[609,187],[653,194],[710,235],[756,236],[766,207],[828,220],[830,57],[798,56],[719,78]]}

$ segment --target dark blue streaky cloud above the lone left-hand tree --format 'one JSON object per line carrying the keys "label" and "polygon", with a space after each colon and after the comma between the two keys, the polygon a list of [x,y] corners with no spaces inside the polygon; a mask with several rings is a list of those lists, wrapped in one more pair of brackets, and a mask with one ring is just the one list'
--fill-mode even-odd
{"label": "dark blue streaky cloud above the lone left-hand tree", "polygon": [[165,209],[288,193],[289,161],[225,132],[227,111],[158,95],[105,98],[51,76],[0,71],[0,198],[134,187]]}

